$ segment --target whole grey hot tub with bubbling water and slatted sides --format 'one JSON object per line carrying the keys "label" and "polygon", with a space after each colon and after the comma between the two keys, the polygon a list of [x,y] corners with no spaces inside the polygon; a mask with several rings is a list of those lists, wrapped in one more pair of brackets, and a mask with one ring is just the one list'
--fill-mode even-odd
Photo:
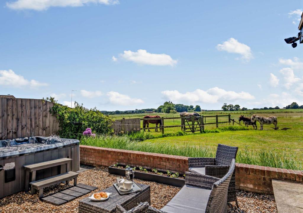
{"label": "whole grey hot tub with bubbling water and slatted sides", "polygon": [[[0,141],[0,198],[24,190],[23,165],[71,158],[72,171],[80,169],[79,141],[58,137],[30,137]],[[36,180],[60,174],[60,167],[37,171]]]}

